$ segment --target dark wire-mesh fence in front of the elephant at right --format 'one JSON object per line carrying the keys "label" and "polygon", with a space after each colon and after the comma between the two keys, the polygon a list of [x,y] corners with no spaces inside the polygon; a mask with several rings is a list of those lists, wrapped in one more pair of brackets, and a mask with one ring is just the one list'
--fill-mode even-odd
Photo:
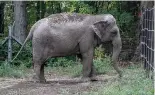
{"label": "dark wire-mesh fence in front of the elephant at right", "polygon": [[154,70],[154,8],[142,8],[141,57],[150,77]]}

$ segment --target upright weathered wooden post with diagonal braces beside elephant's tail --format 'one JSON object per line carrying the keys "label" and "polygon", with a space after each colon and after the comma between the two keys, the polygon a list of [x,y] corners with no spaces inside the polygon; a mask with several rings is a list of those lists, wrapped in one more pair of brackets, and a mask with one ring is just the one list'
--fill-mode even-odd
{"label": "upright weathered wooden post with diagonal braces beside elephant's tail", "polygon": [[12,60],[12,26],[8,26],[9,28],[9,36],[8,36],[8,62]]}

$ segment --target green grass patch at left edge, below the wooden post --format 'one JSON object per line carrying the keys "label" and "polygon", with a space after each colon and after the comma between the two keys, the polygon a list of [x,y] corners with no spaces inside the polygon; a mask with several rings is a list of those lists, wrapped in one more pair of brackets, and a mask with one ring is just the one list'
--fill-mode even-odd
{"label": "green grass patch at left edge, below the wooden post", "polygon": [[21,78],[24,76],[26,76],[26,67],[23,64],[20,66],[14,66],[7,62],[0,64],[0,77]]}

